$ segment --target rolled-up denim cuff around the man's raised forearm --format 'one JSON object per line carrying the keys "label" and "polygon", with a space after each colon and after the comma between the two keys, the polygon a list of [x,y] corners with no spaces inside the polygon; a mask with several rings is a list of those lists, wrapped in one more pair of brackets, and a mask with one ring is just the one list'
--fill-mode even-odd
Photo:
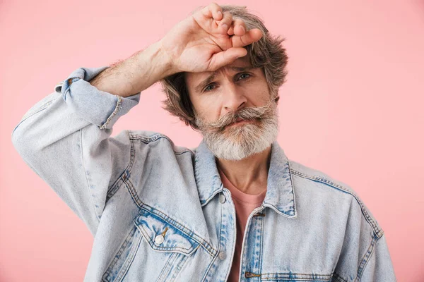
{"label": "rolled-up denim cuff around the man's raised forearm", "polygon": [[112,129],[119,117],[128,113],[140,101],[140,92],[121,97],[90,85],[89,81],[106,68],[109,66],[78,68],[54,87],[54,91],[61,93],[66,104],[78,116],[98,125],[100,129]]}

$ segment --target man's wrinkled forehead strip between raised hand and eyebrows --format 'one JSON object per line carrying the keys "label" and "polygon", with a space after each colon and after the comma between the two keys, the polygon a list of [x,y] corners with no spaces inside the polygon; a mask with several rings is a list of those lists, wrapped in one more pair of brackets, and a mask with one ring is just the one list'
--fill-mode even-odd
{"label": "man's wrinkled forehead strip between raised hand and eyebrows", "polygon": [[252,68],[252,63],[250,63],[249,56],[243,56],[239,59],[236,59],[234,62],[218,68],[216,71],[204,71],[201,73],[185,73],[185,80],[188,87],[195,87],[199,85],[202,81],[204,81],[209,76],[215,74],[219,75],[224,71],[242,71],[242,68]]}

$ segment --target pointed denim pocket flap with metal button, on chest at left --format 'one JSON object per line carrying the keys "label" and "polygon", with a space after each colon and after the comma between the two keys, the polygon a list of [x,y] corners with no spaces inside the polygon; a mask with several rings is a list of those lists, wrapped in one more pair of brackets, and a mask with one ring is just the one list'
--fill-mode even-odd
{"label": "pointed denim pocket flap with metal button, on chest at left", "polygon": [[199,247],[199,243],[182,233],[179,229],[162,219],[160,216],[141,210],[134,219],[134,224],[153,250],[159,252],[179,252],[190,256]]}

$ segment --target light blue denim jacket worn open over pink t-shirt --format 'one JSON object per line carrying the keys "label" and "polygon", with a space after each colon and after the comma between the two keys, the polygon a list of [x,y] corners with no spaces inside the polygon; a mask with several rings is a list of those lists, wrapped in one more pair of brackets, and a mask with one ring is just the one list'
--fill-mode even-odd
{"label": "light blue denim jacket worn open over pink t-shirt", "polygon": [[[90,85],[78,68],[13,130],[13,145],[93,233],[85,281],[226,281],[235,208],[204,142],[124,130],[140,93]],[[247,221],[240,281],[396,281],[382,228],[346,184],[274,142],[266,197]]]}

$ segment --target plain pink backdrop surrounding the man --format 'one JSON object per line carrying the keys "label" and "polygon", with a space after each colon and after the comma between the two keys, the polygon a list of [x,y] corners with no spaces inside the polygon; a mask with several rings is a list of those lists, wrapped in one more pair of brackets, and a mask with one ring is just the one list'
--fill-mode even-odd
{"label": "plain pink backdrop surrounding the man", "polygon": [[[60,2],[0,4],[2,282],[82,281],[93,243],[13,149],[11,133],[25,111],[74,69],[125,59],[209,3]],[[387,236],[398,280],[424,281],[424,2],[232,4],[247,5],[287,38],[278,138],[285,153],[351,185]],[[163,98],[158,85],[144,91],[112,135],[155,130],[196,147],[201,137],[160,108]]]}

